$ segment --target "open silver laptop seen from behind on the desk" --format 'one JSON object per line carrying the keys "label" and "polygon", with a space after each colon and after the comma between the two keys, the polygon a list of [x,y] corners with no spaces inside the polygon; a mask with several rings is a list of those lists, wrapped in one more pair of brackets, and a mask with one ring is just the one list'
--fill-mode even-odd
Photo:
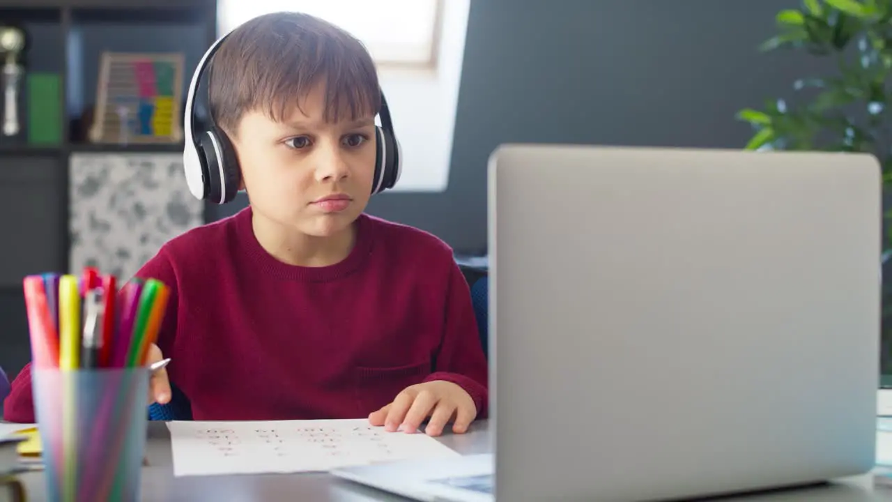
{"label": "open silver laptop seen from behind on the desk", "polygon": [[342,475],[422,500],[655,500],[869,471],[880,191],[868,155],[500,146],[494,483],[478,456]]}

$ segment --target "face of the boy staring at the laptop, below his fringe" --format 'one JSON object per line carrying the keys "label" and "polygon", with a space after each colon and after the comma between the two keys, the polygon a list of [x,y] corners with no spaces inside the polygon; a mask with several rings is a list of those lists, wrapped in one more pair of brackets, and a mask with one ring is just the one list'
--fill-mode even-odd
{"label": "face of the boy staring at the laptop, below his fringe", "polygon": [[350,228],[368,204],[375,172],[374,115],[326,123],[325,88],[281,122],[245,113],[233,145],[254,213],[315,237]]}

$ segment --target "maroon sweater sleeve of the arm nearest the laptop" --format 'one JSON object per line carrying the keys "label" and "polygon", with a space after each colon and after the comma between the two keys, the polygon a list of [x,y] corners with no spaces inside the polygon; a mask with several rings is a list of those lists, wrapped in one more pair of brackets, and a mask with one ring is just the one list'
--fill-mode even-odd
{"label": "maroon sweater sleeve of the arm nearest the laptop", "polygon": [[452,262],[442,340],[436,354],[434,372],[425,381],[451,381],[474,399],[477,419],[489,413],[489,369],[477,321],[471,292],[458,264]]}

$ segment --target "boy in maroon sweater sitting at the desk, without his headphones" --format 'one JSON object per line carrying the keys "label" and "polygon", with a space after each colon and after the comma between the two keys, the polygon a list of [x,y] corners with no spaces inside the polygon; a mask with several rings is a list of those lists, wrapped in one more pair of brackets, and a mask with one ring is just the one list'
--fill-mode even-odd
{"label": "boy in maroon sweater sitting at the desk, without his headphones", "polygon": [[[325,21],[268,14],[221,44],[209,92],[251,205],[137,272],[171,288],[150,355],[171,362],[150,402],[172,382],[194,420],[467,431],[488,399],[467,283],[442,241],[363,213],[381,106],[365,48]],[[29,367],[5,419],[34,421]]]}

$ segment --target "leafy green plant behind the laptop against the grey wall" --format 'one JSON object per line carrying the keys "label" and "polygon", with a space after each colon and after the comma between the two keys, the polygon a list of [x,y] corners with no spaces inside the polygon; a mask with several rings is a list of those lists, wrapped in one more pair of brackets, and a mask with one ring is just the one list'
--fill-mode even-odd
{"label": "leafy green plant behind the laptop against the grey wall", "polygon": [[[803,75],[786,97],[764,108],[740,110],[755,133],[750,150],[867,152],[879,159],[883,188],[892,191],[892,0],[804,0],[799,9],[777,13],[778,33],[763,51],[797,50],[828,60],[828,75]],[[884,210],[884,269],[892,264],[892,211]],[[892,288],[883,274],[882,354],[892,357]],[[882,361],[892,372],[892,359]]]}

